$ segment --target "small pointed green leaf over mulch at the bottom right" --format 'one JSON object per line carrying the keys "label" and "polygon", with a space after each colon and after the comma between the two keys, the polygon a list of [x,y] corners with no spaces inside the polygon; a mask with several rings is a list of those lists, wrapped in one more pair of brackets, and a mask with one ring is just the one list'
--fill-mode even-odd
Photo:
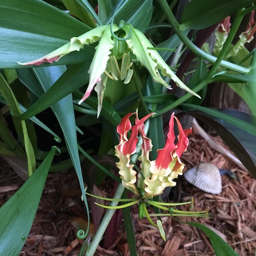
{"label": "small pointed green leaf over mulch at the bottom right", "polygon": [[218,236],[217,233],[215,233],[208,227],[194,222],[185,223],[190,226],[195,226],[207,234],[216,256],[239,256],[239,254],[234,251],[220,236]]}

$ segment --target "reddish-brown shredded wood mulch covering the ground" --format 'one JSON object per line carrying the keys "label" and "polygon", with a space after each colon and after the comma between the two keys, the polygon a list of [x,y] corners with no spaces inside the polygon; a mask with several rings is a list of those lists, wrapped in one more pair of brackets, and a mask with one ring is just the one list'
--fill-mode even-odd
{"label": "reddish-brown shredded wood mulch covering the ground", "polygon": [[[214,138],[223,145],[219,137]],[[219,168],[230,169],[237,179],[222,176],[222,193],[207,194],[187,183],[181,177],[172,191],[175,201],[195,199],[194,210],[209,207],[212,219],[182,218],[182,221],[199,222],[214,228],[239,255],[255,255],[256,251],[256,180],[245,170],[212,150],[200,135],[190,136],[189,147],[182,156],[186,169],[202,162],[214,163]],[[228,149],[227,149],[228,150]],[[10,198],[23,181],[10,166],[0,159],[0,205]],[[82,222],[84,207],[77,189],[73,170],[49,174],[37,214],[20,255],[77,255],[83,241],[76,238],[77,222]],[[68,195],[67,195],[68,191]],[[188,209],[183,206],[182,209]],[[132,208],[138,255],[215,255],[206,235],[195,227],[182,224],[170,217],[162,218],[167,241],[159,231],[139,219],[137,208]],[[108,249],[101,247],[97,255],[130,255],[123,226],[115,242]]]}

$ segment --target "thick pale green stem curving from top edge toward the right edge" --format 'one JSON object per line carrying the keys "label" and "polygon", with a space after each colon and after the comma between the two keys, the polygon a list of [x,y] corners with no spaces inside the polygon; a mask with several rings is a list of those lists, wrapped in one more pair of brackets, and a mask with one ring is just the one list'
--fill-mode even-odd
{"label": "thick pale green stem curving from top edge toward the right edge", "polygon": [[[166,0],[158,0],[158,2],[168,20],[168,22],[172,25],[175,33],[179,36],[179,38],[184,43],[184,45],[186,45],[186,47],[191,52],[195,53],[199,57],[206,59],[212,63],[216,62],[217,58],[215,56],[205,53],[200,48],[195,46],[193,44],[193,42],[191,42],[190,39],[184,34],[184,32],[180,30],[180,24],[177,22],[177,19],[175,18],[172,10],[169,8],[167,1]],[[244,16],[244,13],[241,12],[241,14],[242,14],[242,16]],[[234,71],[237,71],[240,73],[248,73],[250,71],[248,68],[238,66],[236,64],[233,64],[231,62],[228,62],[228,61],[222,60],[222,59],[220,61],[220,65],[224,68],[231,69],[231,70],[234,70]]]}

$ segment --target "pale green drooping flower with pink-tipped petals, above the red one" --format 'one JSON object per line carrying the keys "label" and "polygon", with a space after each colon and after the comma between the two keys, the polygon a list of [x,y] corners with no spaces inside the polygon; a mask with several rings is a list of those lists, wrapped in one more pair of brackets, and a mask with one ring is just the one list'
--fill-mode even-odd
{"label": "pale green drooping flower with pink-tipped petals, above the red one", "polygon": [[[98,115],[102,108],[106,80],[111,78],[113,80],[124,80],[124,83],[130,82],[133,75],[133,69],[131,69],[133,65],[130,56],[131,52],[135,55],[135,59],[150,72],[156,82],[171,89],[161,77],[160,70],[163,76],[172,78],[178,87],[200,98],[198,94],[190,90],[175,75],[156,50],[150,49],[153,48],[153,45],[144,34],[138,29],[133,28],[132,25],[124,24],[123,21],[119,23],[119,26],[116,24],[99,26],[78,37],[71,38],[68,44],[41,58],[25,63],[18,63],[20,65],[40,65],[44,62],[52,63],[70,52],[79,51],[84,45],[90,45],[97,41],[99,43],[95,48],[96,52],[89,69],[89,85],[79,104],[90,96],[93,88],[96,86]],[[121,65],[118,62],[121,62]]]}

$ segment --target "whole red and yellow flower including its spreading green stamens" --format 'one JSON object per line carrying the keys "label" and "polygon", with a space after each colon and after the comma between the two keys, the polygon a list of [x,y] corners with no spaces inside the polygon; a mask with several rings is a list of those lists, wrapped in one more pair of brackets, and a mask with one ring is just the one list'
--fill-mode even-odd
{"label": "whole red and yellow flower including its spreading green stamens", "polygon": [[[135,124],[132,125],[130,117],[134,114]],[[115,155],[119,158],[119,162],[117,162],[116,165],[119,168],[123,186],[131,190],[136,198],[112,199],[87,194],[94,198],[123,203],[118,206],[107,206],[95,202],[96,205],[107,209],[121,209],[139,204],[139,218],[146,217],[148,222],[159,229],[160,236],[166,241],[161,220],[158,219],[155,223],[151,217],[190,216],[206,218],[209,214],[208,209],[204,211],[183,211],[174,208],[178,205],[190,204],[190,209],[192,209],[194,205],[193,198],[191,198],[191,201],[183,203],[162,203],[153,200],[153,197],[160,195],[165,187],[175,186],[176,182],[174,182],[173,179],[177,178],[178,175],[182,175],[184,164],[180,161],[180,156],[186,151],[188,146],[187,136],[191,133],[191,128],[183,130],[179,120],[173,113],[169,121],[169,131],[165,146],[161,150],[158,150],[157,159],[150,161],[152,142],[150,138],[146,137],[144,122],[152,115],[154,115],[154,113],[139,119],[137,110],[136,113],[127,114],[117,126],[119,144],[115,146]],[[174,143],[176,138],[174,134],[174,119],[176,119],[179,128],[178,142],[176,144]],[[140,135],[140,140],[138,135]],[[134,169],[135,166],[131,157],[138,152],[138,147],[141,150],[141,155],[138,158],[141,164],[140,170],[137,173]],[[152,205],[168,213],[148,214],[147,205]]]}

